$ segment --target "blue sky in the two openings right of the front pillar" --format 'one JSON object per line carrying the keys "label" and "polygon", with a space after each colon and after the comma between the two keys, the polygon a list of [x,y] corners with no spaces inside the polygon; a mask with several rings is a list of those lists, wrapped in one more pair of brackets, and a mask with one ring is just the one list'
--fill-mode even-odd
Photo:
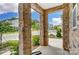
{"label": "blue sky in the two openings right of the front pillar", "polygon": [[[31,14],[32,20],[40,20],[40,14],[37,11],[31,9],[31,13],[32,13]],[[48,14],[48,23],[52,24],[52,25],[61,24],[62,23],[62,18],[61,18],[62,14],[63,14],[62,10]]]}

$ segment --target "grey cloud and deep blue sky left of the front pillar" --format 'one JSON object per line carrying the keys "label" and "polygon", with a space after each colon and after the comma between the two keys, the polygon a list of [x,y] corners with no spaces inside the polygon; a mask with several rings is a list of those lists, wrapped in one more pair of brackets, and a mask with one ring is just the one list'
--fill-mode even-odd
{"label": "grey cloud and deep blue sky left of the front pillar", "polygon": [[18,4],[0,3],[0,21],[12,17],[18,17]]}

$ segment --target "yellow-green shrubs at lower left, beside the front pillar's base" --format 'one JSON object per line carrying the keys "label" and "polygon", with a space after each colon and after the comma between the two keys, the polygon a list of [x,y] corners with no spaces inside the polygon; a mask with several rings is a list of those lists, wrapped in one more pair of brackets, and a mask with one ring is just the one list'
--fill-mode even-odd
{"label": "yellow-green shrubs at lower left, beside the front pillar's base", "polygon": [[3,42],[2,44],[0,44],[0,49],[4,49],[4,48],[10,48],[11,51],[11,55],[18,55],[19,54],[19,42],[18,40],[9,40],[7,42]]}

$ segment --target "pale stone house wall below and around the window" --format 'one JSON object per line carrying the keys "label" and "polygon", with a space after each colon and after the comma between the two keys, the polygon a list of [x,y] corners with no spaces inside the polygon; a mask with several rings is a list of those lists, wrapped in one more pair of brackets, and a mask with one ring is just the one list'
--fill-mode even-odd
{"label": "pale stone house wall below and around the window", "polygon": [[79,54],[79,16],[77,17],[77,29],[72,28],[72,19],[70,20],[70,54]]}

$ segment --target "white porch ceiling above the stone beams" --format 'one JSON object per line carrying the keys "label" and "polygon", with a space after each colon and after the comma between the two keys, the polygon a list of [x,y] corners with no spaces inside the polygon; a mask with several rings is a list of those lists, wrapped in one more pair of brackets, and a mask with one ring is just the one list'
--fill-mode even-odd
{"label": "white porch ceiling above the stone beams", "polygon": [[53,8],[53,7],[56,7],[56,6],[60,6],[62,4],[63,3],[38,3],[38,5],[40,7],[42,7],[43,9]]}

